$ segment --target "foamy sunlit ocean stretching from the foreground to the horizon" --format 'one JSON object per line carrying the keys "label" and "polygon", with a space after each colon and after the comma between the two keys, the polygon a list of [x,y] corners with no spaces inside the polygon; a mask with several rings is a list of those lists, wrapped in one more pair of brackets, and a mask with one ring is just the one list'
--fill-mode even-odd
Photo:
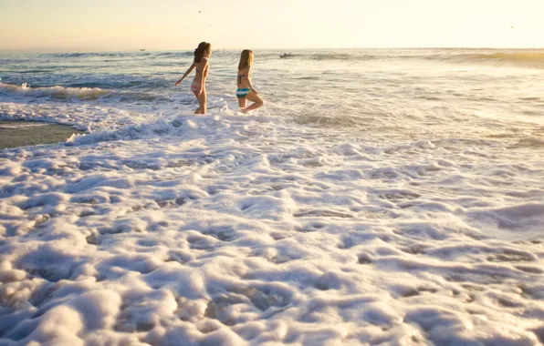
{"label": "foamy sunlit ocean stretching from the foreground to the horizon", "polygon": [[544,342],[544,50],[0,56],[0,345]]}

